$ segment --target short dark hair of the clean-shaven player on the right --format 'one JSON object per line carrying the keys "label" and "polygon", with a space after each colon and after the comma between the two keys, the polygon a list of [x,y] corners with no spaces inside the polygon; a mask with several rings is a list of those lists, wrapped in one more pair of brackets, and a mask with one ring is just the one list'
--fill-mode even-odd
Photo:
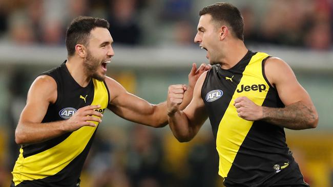
{"label": "short dark hair of the clean-shaven player on the right", "polygon": [[213,21],[228,24],[234,31],[236,37],[244,40],[244,21],[237,7],[228,3],[216,3],[200,10],[199,16],[204,14],[210,14]]}

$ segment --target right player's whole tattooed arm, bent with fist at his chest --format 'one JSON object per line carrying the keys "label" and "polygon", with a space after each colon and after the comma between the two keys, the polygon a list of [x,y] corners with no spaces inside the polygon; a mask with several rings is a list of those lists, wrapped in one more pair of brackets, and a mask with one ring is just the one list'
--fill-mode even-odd
{"label": "right player's whole tattooed arm, bent with fist at his chest", "polygon": [[[263,120],[288,129],[315,128],[318,113],[306,90],[298,83],[292,69],[279,58],[269,58],[265,74],[279,93],[284,108],[262,107],[245,97],[235,100],[238,116],[245,120]],[[283,76],[281,76],[283,72]]]}

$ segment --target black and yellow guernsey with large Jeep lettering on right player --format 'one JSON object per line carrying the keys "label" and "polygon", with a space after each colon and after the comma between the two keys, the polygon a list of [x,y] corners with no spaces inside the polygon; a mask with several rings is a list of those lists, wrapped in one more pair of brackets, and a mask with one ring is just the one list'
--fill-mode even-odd
{"label": "black and yellow guernsey with large Jeep lettering on right player", "polygon": [[209,114],[219,175],[226,186],[269,186],[297,167],[282,127],[240,118],[233,105],[247,97],[259,106],[284,107],[277,90],[265,77],[270,56],[248,51],[230,69],[213,65],[204,80],[201,97]]}

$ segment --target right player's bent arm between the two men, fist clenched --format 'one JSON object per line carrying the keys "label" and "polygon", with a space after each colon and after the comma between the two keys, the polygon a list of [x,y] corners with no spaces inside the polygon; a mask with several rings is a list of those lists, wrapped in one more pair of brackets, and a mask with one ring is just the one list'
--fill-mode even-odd
{"label": "right player's bent arm between the two men, fist clenched", "polygon": [[206,72],[199,78],[194,88],[193,99],[183,111],[179,108],[181,99],[169,93],[168,116],[169,126],[179,142],[190,141],[200,130],[207,119],[204,103],[201,99],[201,87]]}

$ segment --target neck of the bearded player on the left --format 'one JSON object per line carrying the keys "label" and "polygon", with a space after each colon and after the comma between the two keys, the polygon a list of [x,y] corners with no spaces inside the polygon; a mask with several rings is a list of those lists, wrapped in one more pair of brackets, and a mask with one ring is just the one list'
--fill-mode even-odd
{"label": "neck of the bearded player on the left", "polygon": [[77,57],[68,58],[67,69],[73,79],[82,87],[86,87],[90,82],[90,77],[86,74],[83,60]]}

